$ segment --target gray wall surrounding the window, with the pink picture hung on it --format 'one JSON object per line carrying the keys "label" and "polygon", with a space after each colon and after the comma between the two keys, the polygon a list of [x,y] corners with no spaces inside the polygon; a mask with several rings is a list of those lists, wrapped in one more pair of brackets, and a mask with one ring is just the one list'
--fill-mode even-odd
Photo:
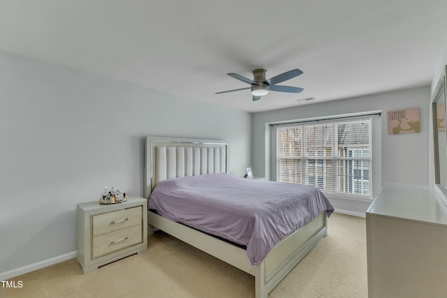
{"label": "gray wall surrounding the window, with the pink picture hung on it", "polygon": [[[268,123],[381,110],[383,114],[379,118],[379,126],[373,126],[373,137],[374,134],[379,135],[374,138],[374,145],[376,147],[379,142],[381,148],[379,154],[373,157],[373,173],[379,174],[377,179],[381,179],[381,184],[374,187],[373,195],[386,183],[427,185],[429,102],[430,87],[427,86],[256,113],[253,117],[254,175],[268,174],[270,154],[265,144],[269,137]],[[411,107],[420,109],[420,133],[388,135],[386,112]],[[381,129],[380,132],[374,132],[377,127]],[[370,204],[368,200],[329,199],[335,209],[346,211],[348,214],[364,214]]]}

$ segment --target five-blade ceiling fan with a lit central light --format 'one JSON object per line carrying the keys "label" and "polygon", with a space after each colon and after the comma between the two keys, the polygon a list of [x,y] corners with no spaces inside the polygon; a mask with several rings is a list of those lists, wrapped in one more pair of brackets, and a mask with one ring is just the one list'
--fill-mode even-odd
{"label": "five-blade ceiling fan with a lit central light", "polygon": [[288,93],[300,93],[302,88],[300,87],[290,87],[290,86],[281,86],[277,85],[280,82],[284,82],[286,80],[290,80],[293,77],[298,77],[298,75],[302,74],[302,71],[297,69],[289,70],[286,73],[281,73],[281,75],[277,75],[275,77],[271,77],[270,79],[265,79],[265,74],[267,70],[265,69],[255,69],[253,70],[253,80],[247,79],[247,77],[242,77],[242,75],[237,75],[237,73],[227,73],[230,77],[234,77],[236,80],[240,80],[247,84],[251,84],[251,87],[241,88],[241,89],[233,89],[228,91],[216,92],[216,94],[223,94],[227,92],[240,91],[251,89],[251,94],[253,95],[253,101],[260,100],[261,96],[268,94],[268,91],[280,91],[280,92],[288,92]]}

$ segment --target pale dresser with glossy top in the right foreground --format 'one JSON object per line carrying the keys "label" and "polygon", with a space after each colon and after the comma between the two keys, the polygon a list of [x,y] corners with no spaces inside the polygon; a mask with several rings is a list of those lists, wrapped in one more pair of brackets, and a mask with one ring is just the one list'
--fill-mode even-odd
{"label": "pale dresser with glossy top in the right foreground", "polygon": [[447,209],[433,188],[386,184],[366,228],[370,298],[447,297]]}

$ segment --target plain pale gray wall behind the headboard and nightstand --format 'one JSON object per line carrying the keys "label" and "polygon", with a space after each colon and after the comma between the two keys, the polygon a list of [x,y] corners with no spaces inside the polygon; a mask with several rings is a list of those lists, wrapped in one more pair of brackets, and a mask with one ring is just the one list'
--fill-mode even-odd
{"label": "plain pale gray wall behind the headboard and nightstand", "polygon": [[[251,114],[0,52],[0,276],[73,257],[75,207],[143,195],[145,135],[226,140],[251,161]],[[1,278],[0,278],[1,279]]]}

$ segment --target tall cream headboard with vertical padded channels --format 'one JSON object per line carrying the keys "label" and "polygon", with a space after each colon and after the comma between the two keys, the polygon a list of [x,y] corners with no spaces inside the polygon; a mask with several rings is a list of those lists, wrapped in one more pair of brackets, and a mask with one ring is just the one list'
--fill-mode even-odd
{"label": "tall cream headboard with vertical padded channels", "polygon": [[227,172],[228,144],[217,140],[146,137],[145,198],[165,179]]}

